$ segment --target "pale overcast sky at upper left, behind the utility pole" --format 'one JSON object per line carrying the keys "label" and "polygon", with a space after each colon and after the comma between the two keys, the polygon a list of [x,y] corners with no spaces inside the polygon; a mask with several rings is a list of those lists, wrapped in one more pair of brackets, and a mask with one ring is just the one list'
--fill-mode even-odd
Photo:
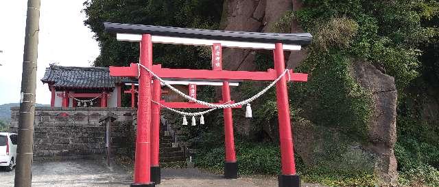
{"label": "pale overcast sky at upper left, behind the utility pole", "polygon": [[[36,102],[50,104],[50,91],[41,83],[49,63],[91,66],[99,46],[84,26],[85,0],[41,0]],[[27,1],[0,1],[0,104],[19,102]]]}

